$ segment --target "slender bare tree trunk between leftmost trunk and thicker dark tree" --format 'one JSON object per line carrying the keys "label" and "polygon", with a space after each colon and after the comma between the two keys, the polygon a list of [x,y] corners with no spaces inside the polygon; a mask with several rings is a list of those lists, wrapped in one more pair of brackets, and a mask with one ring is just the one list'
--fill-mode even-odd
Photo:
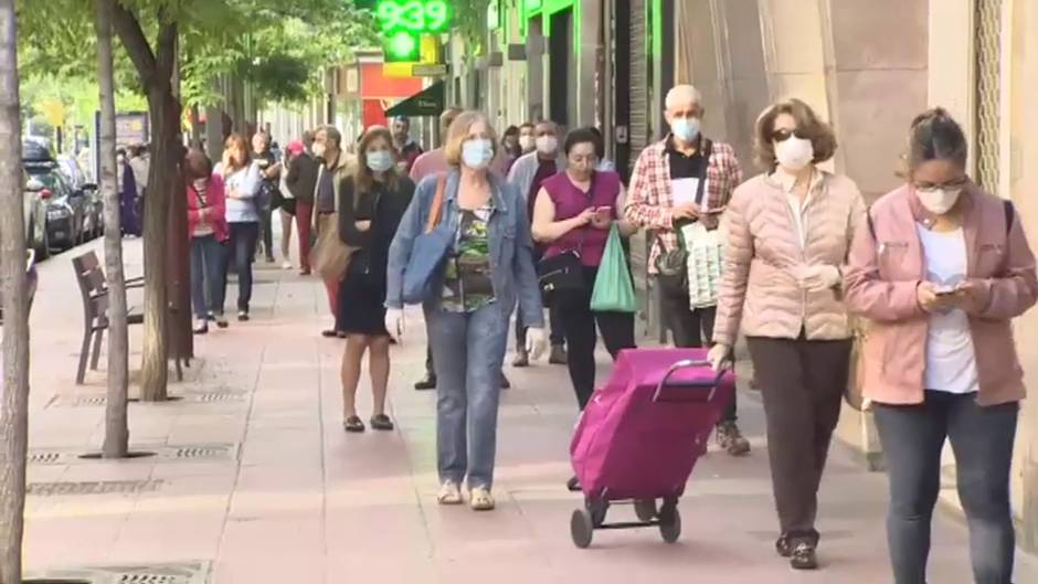
{"label": "slender bare tree trunk between leftmost trunk and thicker dark tree", "polygon": [[105,458],[124,458],[129,450],[126,397],[129,378],[129,335],[123,236],[119,233],[119,192],[116,182],[115,82],[112,59],[112,2],[97,0],[97,82],[100,97],[100,177],[105,194],[105,270],[108,278],[108,401],[105,411]]}

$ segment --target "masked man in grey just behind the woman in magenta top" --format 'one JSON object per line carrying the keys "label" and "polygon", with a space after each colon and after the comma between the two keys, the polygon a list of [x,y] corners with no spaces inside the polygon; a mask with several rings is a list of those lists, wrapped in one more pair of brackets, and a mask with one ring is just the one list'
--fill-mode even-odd
{"label": "masked man in grey just behind the woman in magenta top", "polygon": [[[525,127],[526,125],[523,125]],[[519,128],[520,145],[523,144],[523,128]],[[561,134],[559,125],[554,121],[546,119],[537,123],[533,126],[533,150],[519,157],[508,171],[508,182],[515,184],[519,189],[519,194],[526,199],[527,212],[531,221],[533,219],[533,203],[537,200],[537,193],[541,190],[541,183],[565,170],[565,155],[559,148],[559,136]],[[539,246],[534,247],[534,263],[540,261],[542,252]],[[549,310],[557,311],[551,306],[549,306]],[[565,336],[562,331],[562,319],[550,315],[550,321],[551,353],[548,362],[564,365],[566,363]],[[526,327],[521,326],[520,322],[516,325],[516,359],[512,361],[512,367],[527,367],[529,364],[529,358],[523,351],[523,347],[526,347]]]}

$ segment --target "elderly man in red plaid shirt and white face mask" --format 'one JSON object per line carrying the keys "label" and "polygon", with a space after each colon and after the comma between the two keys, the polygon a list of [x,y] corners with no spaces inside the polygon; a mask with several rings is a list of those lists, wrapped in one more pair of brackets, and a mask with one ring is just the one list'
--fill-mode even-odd
{"label": "elderly man in red plaid shirt and white face mask", "polygon": [[[742,182],[742,170],[731,146],[700,134],[703,108],[699,92],[691,85],[670,89],[666,118],[670,134],[647,147],[638,157],[631,178],[625,213],[633,223],[653,230],[658,240],[649,254],[649,274],[656,274],[656,259],[664,249],[678,246],[676,230],[701,221],[717,226],[732,191]],[[700,182],[706,181],[702,187]],[[705,347],[712,342],[717,307],[689,307],[688,290],[663,297],[664,321],[670,327],[677,347]],[[718,444],[732,456],[750,452],[750,443],[735,423],[735,401],[718,424]]]}

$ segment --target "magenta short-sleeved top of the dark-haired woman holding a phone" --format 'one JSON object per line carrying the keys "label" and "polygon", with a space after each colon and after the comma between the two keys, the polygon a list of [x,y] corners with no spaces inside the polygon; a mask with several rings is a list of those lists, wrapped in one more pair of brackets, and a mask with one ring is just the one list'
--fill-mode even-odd
{"label": "magenta short-sleeved top of the dark-haired woman holding a phone", "polygon": [[[619,195],[619,174],[613,171],[595,171],[591,181],[591,192],[580,190],[566,172],[560,172],[546,180],[541,187],[551,197],[555,204],[555,221],[575,217],[585,209],[607,206],[616,213],[616,197]],[[608,230],[595,229],[591,225],[570,230],[565,235],[551,242],[544,252],[544,257],[552,257],[575,249],[585,266],[597,266],[602,263],[602,253],[605,251],[605,241]]]}

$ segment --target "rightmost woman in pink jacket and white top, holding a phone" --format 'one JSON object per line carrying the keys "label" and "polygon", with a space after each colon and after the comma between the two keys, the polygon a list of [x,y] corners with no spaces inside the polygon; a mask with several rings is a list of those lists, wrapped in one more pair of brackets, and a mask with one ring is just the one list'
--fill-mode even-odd
{"label": "rightmost woman in pink jacket and white top, holding a phone", "polygon": [[858,227],[845,295],[870,321],[862,393],[890,482],[896,584],[924,584],[945,439],[955,452],[973,576],[1009,584],[1009,471],[1024,373],[1011,319],[1038,298],[1013,204],[966,174],[966,138],[943,109],[912,123],[908,182]]}

